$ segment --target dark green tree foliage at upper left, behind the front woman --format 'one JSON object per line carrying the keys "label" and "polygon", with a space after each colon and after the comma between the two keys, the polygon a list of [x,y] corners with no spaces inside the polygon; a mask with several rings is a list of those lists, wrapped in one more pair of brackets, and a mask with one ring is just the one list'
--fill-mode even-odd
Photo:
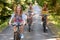
{"label": "dark green tree foliage at upper left, behind the front woman", "polygon": [[0,25],[10,17],[14,4],[20,3],[25,10],[29,2],[32,0],[0,0]]}

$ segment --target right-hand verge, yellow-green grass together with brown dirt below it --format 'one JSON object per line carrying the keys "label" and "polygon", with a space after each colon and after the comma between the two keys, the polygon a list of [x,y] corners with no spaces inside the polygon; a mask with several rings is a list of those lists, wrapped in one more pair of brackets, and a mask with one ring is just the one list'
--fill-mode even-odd
{"label": "right-hand verge, yellow-green grass together with brown dirt below it", "polygon": [[51,26],[52,32],[60,37],[60,16],[50,15],[48,19],[53,24]]}

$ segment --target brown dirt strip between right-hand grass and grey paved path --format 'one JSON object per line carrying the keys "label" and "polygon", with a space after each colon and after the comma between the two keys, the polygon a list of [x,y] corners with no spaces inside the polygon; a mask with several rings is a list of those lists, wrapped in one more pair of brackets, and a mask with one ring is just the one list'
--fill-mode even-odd
{"label": "brown dirt strip between right-hand grass and grey paved path", "polygon": [[55,35],[54,38],[56,38],[56,40],[60,40],[60,33],[58,33],[58,29],[50,20],[48,20],[47,26],[51,30],[52,34]]}

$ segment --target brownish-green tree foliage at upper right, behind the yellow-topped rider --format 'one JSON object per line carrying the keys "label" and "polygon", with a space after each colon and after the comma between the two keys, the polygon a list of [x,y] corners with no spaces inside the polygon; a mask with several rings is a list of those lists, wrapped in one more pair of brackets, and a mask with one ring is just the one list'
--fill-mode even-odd
{"label": "brownish-green tree foliage at upper right, behind the yellow-topped rider", "polygon": [[54,15],[60,15],[60,0],[36,0],[40,6],[43,6],[44,1],[48,3],[48,9],[51,10],[51,13]]}

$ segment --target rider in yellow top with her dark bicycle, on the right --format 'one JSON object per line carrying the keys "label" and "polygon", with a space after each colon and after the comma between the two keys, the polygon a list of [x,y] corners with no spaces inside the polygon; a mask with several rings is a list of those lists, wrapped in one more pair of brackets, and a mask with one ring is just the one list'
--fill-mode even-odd
{"label": "rider in yellow top with her dark bicycle, on the right", "polygon": [[46,2],[43,5],[42,8],[42,21],[43,21],[43,28],[44,28],[44,32],[46,32],[47,30],[47,16],[48,16],[48,8],[47,8],[47,4]]}

